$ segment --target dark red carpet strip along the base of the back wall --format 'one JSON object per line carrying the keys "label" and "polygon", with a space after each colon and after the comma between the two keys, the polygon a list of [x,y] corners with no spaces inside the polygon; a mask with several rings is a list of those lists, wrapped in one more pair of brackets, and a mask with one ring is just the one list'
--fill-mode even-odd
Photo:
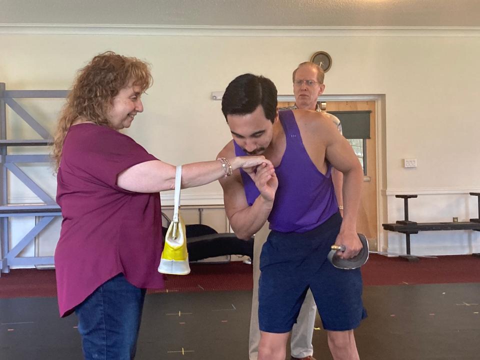
{"label": "dark red carpet strip along the base of the back wall", "polygon": [[[399,257],[371,254],[361,272],[365,286],[480,282],[480,257],[439,256],[408,262]],[[169,275],[165,284],[165,289],[151,289],[149,293],[250,290],[251,266],[241,261],[191,264],[189,275]],[[55,295],[54,270],[13,269],[1,274],[0,298]]]}

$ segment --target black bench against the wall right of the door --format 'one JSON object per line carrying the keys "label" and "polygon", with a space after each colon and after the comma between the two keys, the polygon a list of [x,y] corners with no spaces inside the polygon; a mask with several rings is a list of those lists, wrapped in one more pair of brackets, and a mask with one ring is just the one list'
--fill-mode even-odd
{"label": "black bench against the wall right of the door", "polygon": [[[470,192],[470,195],[478,197],[478,216],[480,217],[480,192]],[[397,220],[395,223],[381,224],[383,229],[404,233],[406,236],[406,253],[410,254],[410,234],[419,231],[438,231],[438,230],[474,230],[480,231],[480,218],[471,218],[470,221],[451,221],[451,222],[415,222],[408,219],[408,199],[418,195],[395,195],[403,198],[404,214],[403,220]],[[474,254],[479,255],[479,254]]]}

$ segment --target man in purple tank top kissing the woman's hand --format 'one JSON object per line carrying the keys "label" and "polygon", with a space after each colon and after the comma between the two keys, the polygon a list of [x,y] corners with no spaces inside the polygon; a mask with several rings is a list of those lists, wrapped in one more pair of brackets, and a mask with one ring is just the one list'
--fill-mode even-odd
{"label": "man in purple tank top kissing the woman's hand", "polygon": [[[361,249],[356,233],[363,172],[331,119],[310,110],[277,111],[275,85],[252,74],[236,77],[222,97],[233,140],[218,156],[262,154],[271,164],[220,179],[225,210],[240,238],[268,219],[271,232],[260,255],[258,359],[285,358],[288,333],[308,289],[327,330],[334,359],[358,359],[353,329],[366,316],[361,274],[326,259],[333,243],[342,257]],[[344,218],[331,181],[343,173]]]}

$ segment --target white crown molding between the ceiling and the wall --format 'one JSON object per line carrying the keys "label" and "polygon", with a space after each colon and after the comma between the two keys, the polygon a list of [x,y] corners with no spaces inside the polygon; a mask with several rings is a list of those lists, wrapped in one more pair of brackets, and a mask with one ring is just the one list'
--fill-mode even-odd
{"label": "white crown molding between the ceiling and the wall", "polygon": [[479,37],[480,27],[462,26],[207,26],[0,23],[0,34],[266,36],[266,37]]}

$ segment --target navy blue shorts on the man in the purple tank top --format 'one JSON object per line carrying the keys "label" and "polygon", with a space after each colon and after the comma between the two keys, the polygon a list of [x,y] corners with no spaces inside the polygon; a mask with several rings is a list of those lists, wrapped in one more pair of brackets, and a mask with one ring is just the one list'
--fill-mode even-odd
{"label": "navy blue shorts on the man in the purple tank top", "polygon": [[340,224],[336,213],[307,232],[270,231],[260,254],[260,330],[290,331],[308,288],[324,329],[351,330],[366,317],[360,269],[338,269],[326,258]]}

